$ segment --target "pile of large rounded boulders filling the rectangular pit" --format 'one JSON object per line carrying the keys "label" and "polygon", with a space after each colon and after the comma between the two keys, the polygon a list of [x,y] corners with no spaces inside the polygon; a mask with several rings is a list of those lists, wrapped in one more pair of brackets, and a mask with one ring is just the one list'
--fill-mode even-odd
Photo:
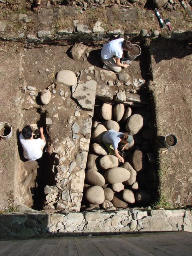
{"label": "pile of large rounded boulders filling the rectangular pit", "polygon": [[[93,119],[81,209],[114,210],[149,205],[152,186],[148,183],[153,183],[155,161],[148,107],[131,109],[124,104],[103,103],[95,106]],[[109,155],[103,144],[103,134],[110,129],[134,137],[125,148],[124,164],[115,155]]]}

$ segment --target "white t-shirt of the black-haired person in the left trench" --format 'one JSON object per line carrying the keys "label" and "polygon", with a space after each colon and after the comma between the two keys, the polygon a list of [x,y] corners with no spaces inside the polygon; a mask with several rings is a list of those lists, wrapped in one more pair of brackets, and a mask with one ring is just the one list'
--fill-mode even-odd
{"label": "white t-shirt of the black-haired person in the left trench", "polygon": [[43,151],[42,146],[45,145],[43,139],[25,139],[22,134],[19,135],[20,143],[23,147],[23,155],[28,160],[39,159]]}

